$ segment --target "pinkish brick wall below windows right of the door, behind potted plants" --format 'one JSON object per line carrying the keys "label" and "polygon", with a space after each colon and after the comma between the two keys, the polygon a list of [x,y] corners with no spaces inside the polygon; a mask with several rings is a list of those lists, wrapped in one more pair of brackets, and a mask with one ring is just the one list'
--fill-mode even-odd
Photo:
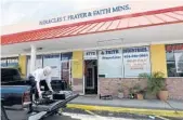
{"label": "pinkish brick wall below windows right of the door, behind potted plants", "polygon": [[[125,89],[125,97],[128,97],[129,89],[139,83],[146,88],[147,81],[138,78],[99,78],[99,94],[112,94],[117,96],[120,86]],[[183,99],[183,78],[168,78],[167,86],[170,99]]]}

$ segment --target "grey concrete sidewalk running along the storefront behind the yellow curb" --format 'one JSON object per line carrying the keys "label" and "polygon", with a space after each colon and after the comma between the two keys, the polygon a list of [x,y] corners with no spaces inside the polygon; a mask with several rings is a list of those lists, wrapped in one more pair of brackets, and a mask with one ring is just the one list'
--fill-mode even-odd
{"label": "grey concrete sidewalk running along the storefront behind the yellow curb", "polygon": [[125,108],[143,108],[143,109],[166,109],[166,110],[183,110],[183,101],[168,101],[173,107],[159,99],[100,99],[97,96],[79,96],[69,104],[109,106]]}

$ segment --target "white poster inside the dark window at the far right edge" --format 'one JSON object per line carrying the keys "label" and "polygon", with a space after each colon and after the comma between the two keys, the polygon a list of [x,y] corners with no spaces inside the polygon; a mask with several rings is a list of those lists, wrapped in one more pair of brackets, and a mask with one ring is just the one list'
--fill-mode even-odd
{"label": "white poster inside the dark window at the far right edge", "polygon": [[177,72],[183,72],[183,52],[174,53]]}

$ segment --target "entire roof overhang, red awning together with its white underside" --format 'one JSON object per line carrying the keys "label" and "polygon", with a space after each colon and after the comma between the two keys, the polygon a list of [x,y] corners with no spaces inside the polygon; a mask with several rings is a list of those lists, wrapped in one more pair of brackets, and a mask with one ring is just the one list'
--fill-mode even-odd
{"label": "entire roof overhang, red awning together with its white underside", "polygon": [[183,42],[183,6],[4,35],[2,55]]}

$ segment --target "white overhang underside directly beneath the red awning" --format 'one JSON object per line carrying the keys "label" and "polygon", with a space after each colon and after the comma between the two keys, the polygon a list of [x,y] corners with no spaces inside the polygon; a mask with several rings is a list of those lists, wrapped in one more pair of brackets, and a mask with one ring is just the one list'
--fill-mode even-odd
{"label": "white overhang underside directly beneath the red awning", "polygon": [[45,39],[44,41],[23,42],[2,45],[2,56],[12,54],[29,54],[25,51],[35,44],[39,54],[70,52],[76,50],[95,50],[107,48],[122,48],[149,45],[158,43],[183,43],[183,24],[141,27],[133,29],[114,30],[88,34],[75,37]]}

